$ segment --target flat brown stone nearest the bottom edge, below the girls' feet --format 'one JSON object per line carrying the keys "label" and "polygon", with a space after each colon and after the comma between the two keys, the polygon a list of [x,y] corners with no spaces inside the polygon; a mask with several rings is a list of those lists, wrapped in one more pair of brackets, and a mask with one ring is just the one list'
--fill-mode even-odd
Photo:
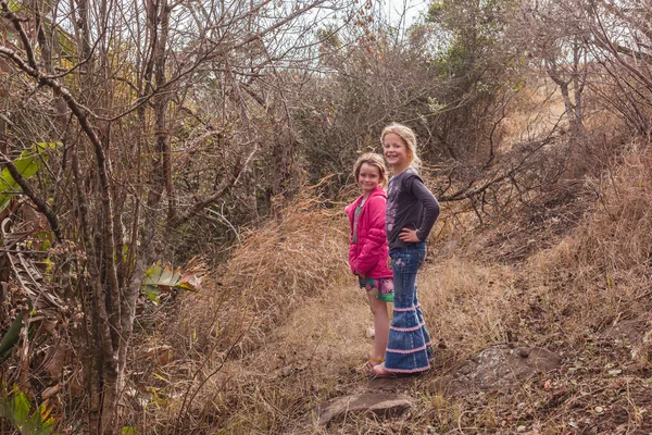
{"label": "flat brown stone nearest the bottom edge, below the girls' feet", "polygon": [[413,400],[409,396],[386,393],[337,397],[319,406],[319,424],[327,425],[341,420],[349,412],[372,412],[381,418],[399,417],[412,408],[412,402]]}

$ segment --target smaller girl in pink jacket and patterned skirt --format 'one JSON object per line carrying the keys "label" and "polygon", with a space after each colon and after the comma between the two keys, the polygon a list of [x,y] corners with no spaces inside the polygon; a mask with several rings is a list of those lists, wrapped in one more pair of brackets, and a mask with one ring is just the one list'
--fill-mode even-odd
{"label": "smaller girl in pink jacket and patterned skirt", "polygon": [[381,156],[367,153],[358,159],[353,173],[362,195],[344,209],[351,224],[349,264],[351,272],[358,275],[360,287],[366,289],[374,314],[374,350],[363,366],[367,374],[373,374],[372,368],[385,361],[389,336],[387,302],[393,302],[385,232],[387,195],[383,189],[387,184],[387,169]]}

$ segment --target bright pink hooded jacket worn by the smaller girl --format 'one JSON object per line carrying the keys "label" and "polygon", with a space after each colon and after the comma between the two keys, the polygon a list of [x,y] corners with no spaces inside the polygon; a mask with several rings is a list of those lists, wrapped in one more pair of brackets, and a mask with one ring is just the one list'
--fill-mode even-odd
{"label": "bright pink hooded jacket worn by the smaller girl", "polygon": [[389,248],[385,233],[385,209],[387,195],[381,187],[372,191],[358,217],[358,243],[353,243],[353,219],[355,209],[362,201],[362,195],[349,204],[344,212],[351,224],[349,238],[349,265],[351,272],[369,278],[390,278],[392,272],[387,268]]}

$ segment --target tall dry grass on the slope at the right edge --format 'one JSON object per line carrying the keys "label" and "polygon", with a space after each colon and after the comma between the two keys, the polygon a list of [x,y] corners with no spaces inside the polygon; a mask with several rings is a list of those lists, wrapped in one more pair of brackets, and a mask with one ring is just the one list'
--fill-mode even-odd
{"label": "tall dry grass on the slope at the right edge", "polygon": [[[569,345],[610,333],[626,319],[652,326],[644,321],[652,308],[651,164],[652,150],[632,142],[618,164],[587,181],[594,203],[573,234],[529,260],[530,294],[549,331]],[[629,333],[636,341],[645,330]]]}

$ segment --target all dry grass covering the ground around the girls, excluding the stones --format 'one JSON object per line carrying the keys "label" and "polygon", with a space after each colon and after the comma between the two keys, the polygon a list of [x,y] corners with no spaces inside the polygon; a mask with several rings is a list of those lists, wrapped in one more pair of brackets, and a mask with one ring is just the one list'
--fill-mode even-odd
{"label": "all dry grass covering the ground around the girls, excluding the stones", "polygon": [[[403,418],[315,422],[318,403],[368,388],[356,369],[372,348],[364,337],[372,315],[348,271],[340,208],[304,198],[285,221],[252,233],[206,285],[211,291],[180,299],[156,340],[173,346],[174,361],[148,369],[149,401],[140,411],[147,418],[135,425],[147,433],[516,433],[525,426],[559,434],[568,424],[604,433],[625,424],[636,433],[649,402],[652,152],[632,147],[620,162],[587,182],[595,200],[579,225],[527,261],[491,262],[506,254],[506,245],[486,240],[480,258],[464,240],[432,249],[440,253],[419,273],[419,298],[441,347],[436,371],[401,388],[416,400]],[[455,237],[447,233],[446,244]],[[474,237],[493,236],[469,232]],[[529,243],[524,234],[511,237]],[[432,386],[463,359],[505,340],[559,351],[563,366],[509,390],[446,397]],[[614,377],[612,369],[623,374]]]}

